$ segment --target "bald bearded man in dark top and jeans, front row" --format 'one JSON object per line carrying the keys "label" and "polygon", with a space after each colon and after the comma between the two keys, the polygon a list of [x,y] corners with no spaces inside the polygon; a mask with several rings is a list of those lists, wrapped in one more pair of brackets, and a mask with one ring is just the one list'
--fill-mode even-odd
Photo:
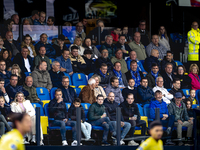
{"label": "bald bearded man in dark top and jeans, front row", "polygon": [[[113,92],[110,92],[108,94],[108,97],[104,100],[104,106],[106,107],[106,113],[114,127],[115,130],[117,130],[117,122],[116,122],[116,108],[119,106],[118,103],[115,102],[115,94]],[[121,118],[121,127],[123,127],[123,131],[121,133],[121,140],[120,145],[124,145],[125,142],[123,139],[129,132],[131,128],[131,124],[129,122],[124,122],[123,117]]]}

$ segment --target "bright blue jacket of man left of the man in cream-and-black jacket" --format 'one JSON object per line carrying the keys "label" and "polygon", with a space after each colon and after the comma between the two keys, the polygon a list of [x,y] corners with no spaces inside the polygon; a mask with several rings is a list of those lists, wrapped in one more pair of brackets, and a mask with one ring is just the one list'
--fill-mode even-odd
{"label": "bright blue jacket of man left of the man in cream-and-black jacket", "polygon": [[66,61],[64,60],[63,56],[59,56],[56,58],[56,61],[60,63],[62,68],[66,69],[66,73],[70,73],[73,71],[71,60],[68,58]]}

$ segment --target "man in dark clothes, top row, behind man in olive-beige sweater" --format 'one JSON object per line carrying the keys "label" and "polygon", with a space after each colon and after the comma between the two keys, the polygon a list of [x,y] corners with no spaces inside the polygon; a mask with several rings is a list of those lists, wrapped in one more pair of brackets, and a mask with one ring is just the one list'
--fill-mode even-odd
{"label": "man in dark clothes, top row, behind man in olive-beige sweater", "polygon": [[144,46],[149,44],[149,32],[146,30],[146,21],[140,20],[139,27],[135,28],[134,33],[139,32],[141,34],[141,42]]}

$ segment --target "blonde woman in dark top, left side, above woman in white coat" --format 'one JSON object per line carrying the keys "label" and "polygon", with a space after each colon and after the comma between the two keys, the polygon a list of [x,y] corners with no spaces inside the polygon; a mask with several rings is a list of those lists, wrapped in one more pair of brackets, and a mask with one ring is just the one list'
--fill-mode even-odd
{"label": "blonde woman in dark top, left side, above woman in white coat", "polygon": [[18,76],[18,85],[24,84],[26,76],[23,72],[21,72],[21,69],[18,64],[13,64],[11,74],[15,74]]}

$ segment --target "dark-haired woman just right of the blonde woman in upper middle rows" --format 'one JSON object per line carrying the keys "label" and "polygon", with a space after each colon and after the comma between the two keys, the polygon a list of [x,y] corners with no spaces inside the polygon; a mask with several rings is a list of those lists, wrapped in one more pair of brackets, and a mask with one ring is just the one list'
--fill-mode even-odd
{"label": "dark-haired woman just right of the blonde woman in upper middle rows", "polygon": [[98,59],[98,57],[101,57],[101,53],[99,52],[99,50],[96,48],[95,45],[91,44],[91,39],[89,37],[85,38],[84,43],[83,43],[83,47],[85,49],[89,49],[92,52],[92,59]]}

